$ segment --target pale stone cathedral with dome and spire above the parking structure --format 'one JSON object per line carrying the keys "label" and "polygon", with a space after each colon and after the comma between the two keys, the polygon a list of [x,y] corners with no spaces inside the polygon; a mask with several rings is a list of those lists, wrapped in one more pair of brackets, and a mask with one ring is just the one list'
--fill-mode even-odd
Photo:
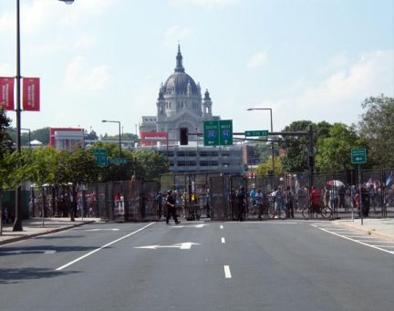
{"label": "pale stone cathedral with dome and spire above the parking structure", "polygon": [[[203,121],[220,119],[218,116],[213,116],[213,102],[208,90],[202,98],[200,83],[196,84],[193,78],[185,72],[180,46],[178,46],[175,70],[164,84],[161,83],[156,106],[157,116],[141,118],[142,140],[149,136],[166,137],[168,135],[170,144],[174,144],[179,140],[181,128],[187,128],[190,134],[202,133]],[[202,137],[189,135],[189,141],[201,140]]]}

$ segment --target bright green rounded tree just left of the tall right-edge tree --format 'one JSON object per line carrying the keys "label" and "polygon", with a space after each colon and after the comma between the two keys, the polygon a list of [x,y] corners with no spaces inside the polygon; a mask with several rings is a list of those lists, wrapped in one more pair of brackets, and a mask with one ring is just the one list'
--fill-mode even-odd
{"label": "bright green rounded tree just left of the tall right-edge tree", "polygon": [[350,153],[353,148],[365,144],[358,138],[354,127],[335,123],[329,137],[319,138],[316,146],[316,168],[321,171],[344,171],[352,169]]}

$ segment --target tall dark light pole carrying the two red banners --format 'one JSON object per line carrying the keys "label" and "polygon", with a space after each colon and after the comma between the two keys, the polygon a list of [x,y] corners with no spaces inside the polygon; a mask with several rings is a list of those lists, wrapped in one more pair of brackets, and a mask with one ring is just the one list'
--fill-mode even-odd
{"label": "tall dark light pole carrying the two red banners", "polygon": [[[61,2],[66,3],[67,5],[71,5],[74,0],[59,0]],[[20,153],[21,150],[21,88],[20,88],[20,80],[21,70],[20,70],[20,5],[19,0],[16,0],[16,150]],[[22,219],[21,219],[21,186],[16,187],[16,210],[15,210],[15,222],[13,231],[23,231],[22,227]]]}

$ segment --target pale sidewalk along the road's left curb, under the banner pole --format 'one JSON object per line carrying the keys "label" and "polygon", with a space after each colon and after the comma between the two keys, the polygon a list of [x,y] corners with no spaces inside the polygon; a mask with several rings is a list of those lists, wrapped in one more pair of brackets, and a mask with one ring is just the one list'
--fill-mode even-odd
{"label": "pale sidewalk along the road's left curb, under the banner pole", "polygon": [[57,233],[86,223],[96,223],[99,221],[99,218],[84,218],[83,221],[81,218],[76,218],[75,222],[70,222],[69,217],[45,218],[43,227],[42,218],[32,218],[22,221],[22,232],[13,232],[13,223],[7,223],[3,224],[3,234],[0,235],[0,245],[25,240],[42,234]]}

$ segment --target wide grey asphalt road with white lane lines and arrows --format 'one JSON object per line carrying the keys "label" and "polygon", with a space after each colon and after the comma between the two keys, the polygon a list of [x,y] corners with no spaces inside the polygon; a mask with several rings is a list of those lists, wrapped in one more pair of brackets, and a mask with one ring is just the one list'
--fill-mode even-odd
{"label": "wide grey asphalt road with white lane lines and arrows", "polygon": [[95,223],[0,247],[0,310],[391,310],[393,244],[329,222]]}

